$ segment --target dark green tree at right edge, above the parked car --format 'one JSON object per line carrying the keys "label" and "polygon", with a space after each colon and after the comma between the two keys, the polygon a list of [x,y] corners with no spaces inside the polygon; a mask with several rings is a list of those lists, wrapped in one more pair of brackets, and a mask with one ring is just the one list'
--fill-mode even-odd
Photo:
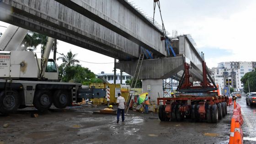
{"label": "dark green tree at right edge, above the parked car", "polygon": [[[249,84],[248,84],[249,80]],[[246,73],[242,78],[241,82],[244,84],[244,91],[245,93],[249,92],[249,85],[250,91],[256,91],[256,71],[251,71]]]}

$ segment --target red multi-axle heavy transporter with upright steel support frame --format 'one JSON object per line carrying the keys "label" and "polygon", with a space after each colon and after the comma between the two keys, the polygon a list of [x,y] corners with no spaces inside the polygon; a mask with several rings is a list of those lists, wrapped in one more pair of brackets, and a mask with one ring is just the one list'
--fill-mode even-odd
{"label": "red multi-axle heavy transporter with upright steel support frame", "polygon": [[227,115],[229,98],[219,95],[218,87],[207,71],[203,53],[202,67],[203,81],[194,86],[193,77],[189,73],[192,66],[184,62],[184,72],[177,88],[179,93],[176,93],[176,97],[157,98],[158,105],[163,103],[158,112],[161,121],[182,121],[186,118],[195,122],[217,123]]}

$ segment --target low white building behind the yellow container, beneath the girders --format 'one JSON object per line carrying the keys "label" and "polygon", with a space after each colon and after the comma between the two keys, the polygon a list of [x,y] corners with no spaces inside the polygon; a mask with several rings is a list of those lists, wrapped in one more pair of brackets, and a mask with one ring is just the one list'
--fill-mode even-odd
{"label": "low white building behind the yellow container, beneath the girders", "polygon": [[[104,71],[101,71],[101,74],[97,74],[97,77],[103,77],[105,80],[107,80],[109,83],[113,84],[114,83],[114,74],[105,74]],[[125,84],[126,80],[131,80],[132,76],[128,75],[127,73],[123,72],[122,75],[122,84]],[[121,76],[120,74],[116,74],[116,84],[120,84]]]}

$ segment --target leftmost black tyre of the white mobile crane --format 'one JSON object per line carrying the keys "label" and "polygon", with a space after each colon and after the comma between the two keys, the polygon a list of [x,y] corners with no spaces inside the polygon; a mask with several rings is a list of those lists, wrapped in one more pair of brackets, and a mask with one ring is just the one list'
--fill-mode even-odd
{"label": "leftmost black tyre of the white mobile crane", "polygon": [[20,99],[17,91],[2,91],[0,93],[0,112],[15,112],[20,107]]}

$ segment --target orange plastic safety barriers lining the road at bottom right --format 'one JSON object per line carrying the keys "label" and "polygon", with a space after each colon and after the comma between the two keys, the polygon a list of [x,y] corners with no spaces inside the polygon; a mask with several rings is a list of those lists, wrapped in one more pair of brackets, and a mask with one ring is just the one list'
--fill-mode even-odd
{"label": "orange plastic safety barriers lining the road at bottom right", "polygon": [[244,120],[241,113],[241,107],[234,101],[233,117],[231,118],[229,144],[243,144],[243,131],[241,126]]}

